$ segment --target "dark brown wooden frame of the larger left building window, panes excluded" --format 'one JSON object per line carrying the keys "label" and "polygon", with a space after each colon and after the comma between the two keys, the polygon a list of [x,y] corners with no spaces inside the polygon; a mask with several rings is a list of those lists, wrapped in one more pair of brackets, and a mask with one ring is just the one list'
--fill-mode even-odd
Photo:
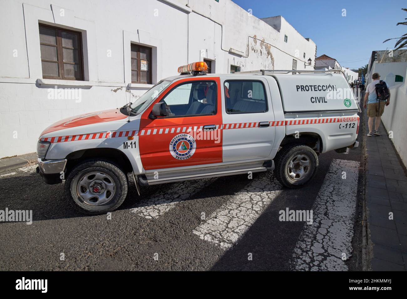
{"label": "dark brown wooden frame of the larger left building window, panes excluded", "polygon": [[[73,30],[68,30],[68,29],[64,29],[64,28],[59,28],[59,27],[39,23],[38,28],[40,28],[40,27],[55,30],[55,38],[56,38],[56,41],[57,41],[57,45],[46,44],[46,43],[41,42],[41,40],[39,41],[39,44],[40,45],[57,47],[57,61],[58,61],[58,75],[59,75],[59,76],[44,76],[44,73],[43,73],[42,78],[43,79],[56,79],[56,80],[84,81],[84,68],[83,68],[83,55],[82,55],[82,51],[83,51],[82,33],[80,31],[73,31]],[[78,48],[77,49],[62,46],[62,35],[61,35],[61,33],[63,31],[67,32],[67,33],[73,33],[73,34],[76,34],[78,36]],[[62,51],[63,48],[78,50],[79,63],[67,62],[67,61],[64,62],[63,61],[63,51]],[[41,62],[42,61],[56,62],[56,61],[52,61],[52,60],[48,60],[48,59],[41,59]],[[65,74],[64,74],[64,69],[63,69],[63,64],[64,63],[66,63],[66,64],[76,64],[76,65],[79,64],[81,66],[79,68],[80,77],[79,78],[66,77]]]}

